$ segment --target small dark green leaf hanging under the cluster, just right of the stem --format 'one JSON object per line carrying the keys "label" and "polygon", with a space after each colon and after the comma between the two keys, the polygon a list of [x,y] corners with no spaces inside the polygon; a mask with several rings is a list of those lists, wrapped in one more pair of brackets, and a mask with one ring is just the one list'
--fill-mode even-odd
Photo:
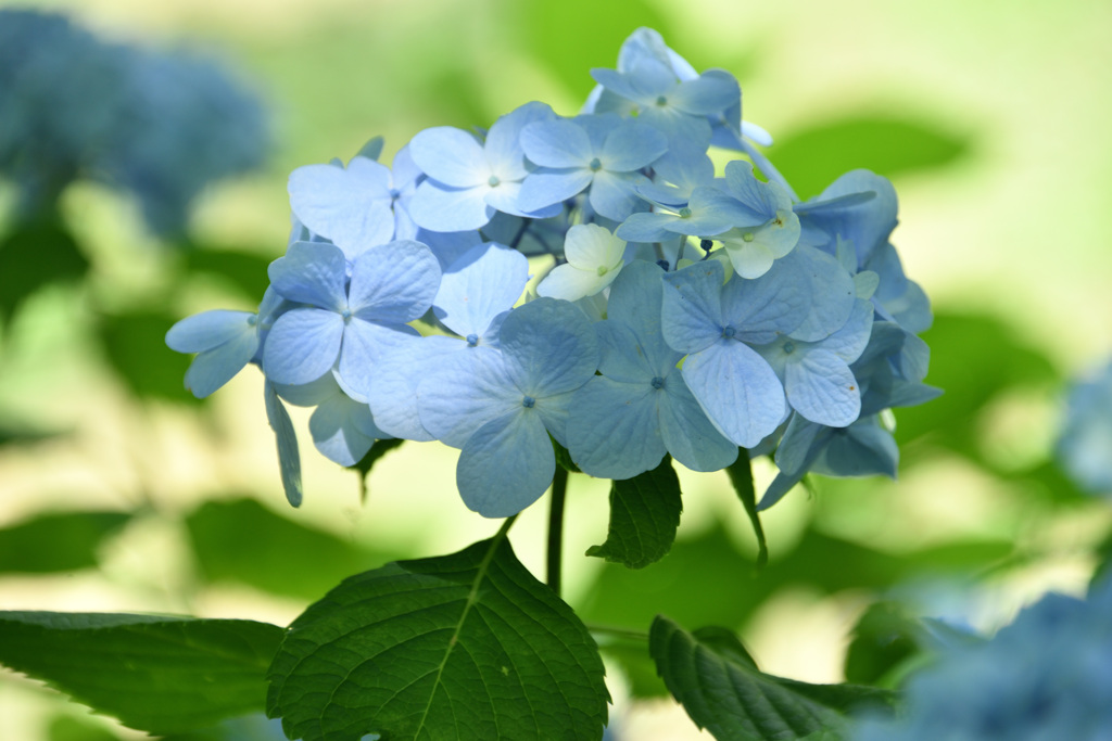
{"label": "small dark green leaf hanging under the cluster, just right of the stem", "polygon": [[606,542],[587,555],[643,569],[663,559],[676,540],[683,499],[672,457],[632,479],[610,484],[610,524]]}

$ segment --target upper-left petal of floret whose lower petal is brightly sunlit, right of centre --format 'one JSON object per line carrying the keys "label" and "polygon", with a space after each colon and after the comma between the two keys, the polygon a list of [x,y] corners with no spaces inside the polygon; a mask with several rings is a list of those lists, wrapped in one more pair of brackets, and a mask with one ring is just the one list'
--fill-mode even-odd
{"label": "upper-left petal of floret whose lower petal is brightly sunlit, right of centre", "polygon": [[706,260],[664,276],[662,329],[678,352],[698,352],[722,338],[722,263]]}

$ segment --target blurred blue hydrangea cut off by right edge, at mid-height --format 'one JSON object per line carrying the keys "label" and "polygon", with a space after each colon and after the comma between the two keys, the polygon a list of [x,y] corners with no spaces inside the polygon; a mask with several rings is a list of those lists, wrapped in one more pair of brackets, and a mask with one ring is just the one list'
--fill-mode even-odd
{"label": "blurred blue hydrangea cut off by right edge, at mid-height", "polygon": [[1112,362],[1078,379],[1065,404],[1059,461],[1079,487],[1112,497]]}

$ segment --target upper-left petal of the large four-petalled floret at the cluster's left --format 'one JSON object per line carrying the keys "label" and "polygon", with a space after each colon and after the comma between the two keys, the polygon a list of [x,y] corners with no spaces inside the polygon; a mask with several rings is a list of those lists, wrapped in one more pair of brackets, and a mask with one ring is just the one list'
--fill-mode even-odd
{"label": "upper-left petal of the large four-petalled floret at the cluster's left", "polygon": [[344,252],[325,242],[294,242],[267,268],[270,284],[284,298],[331,311],[347,307],[346,273]]}

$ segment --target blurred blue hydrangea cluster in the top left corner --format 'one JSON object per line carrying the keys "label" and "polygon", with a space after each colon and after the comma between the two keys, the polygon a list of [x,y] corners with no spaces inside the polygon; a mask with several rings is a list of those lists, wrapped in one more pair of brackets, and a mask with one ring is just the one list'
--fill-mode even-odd
{"label": "blurred blue hydrangea cluster in the top left corner", "polygon": [[0,176],[17,218],[86,178],[133,194],[156,233],[185,232],[206,183],[262,163],[265,112],[216,64],[106,43],[66,18],[0,10]]}

